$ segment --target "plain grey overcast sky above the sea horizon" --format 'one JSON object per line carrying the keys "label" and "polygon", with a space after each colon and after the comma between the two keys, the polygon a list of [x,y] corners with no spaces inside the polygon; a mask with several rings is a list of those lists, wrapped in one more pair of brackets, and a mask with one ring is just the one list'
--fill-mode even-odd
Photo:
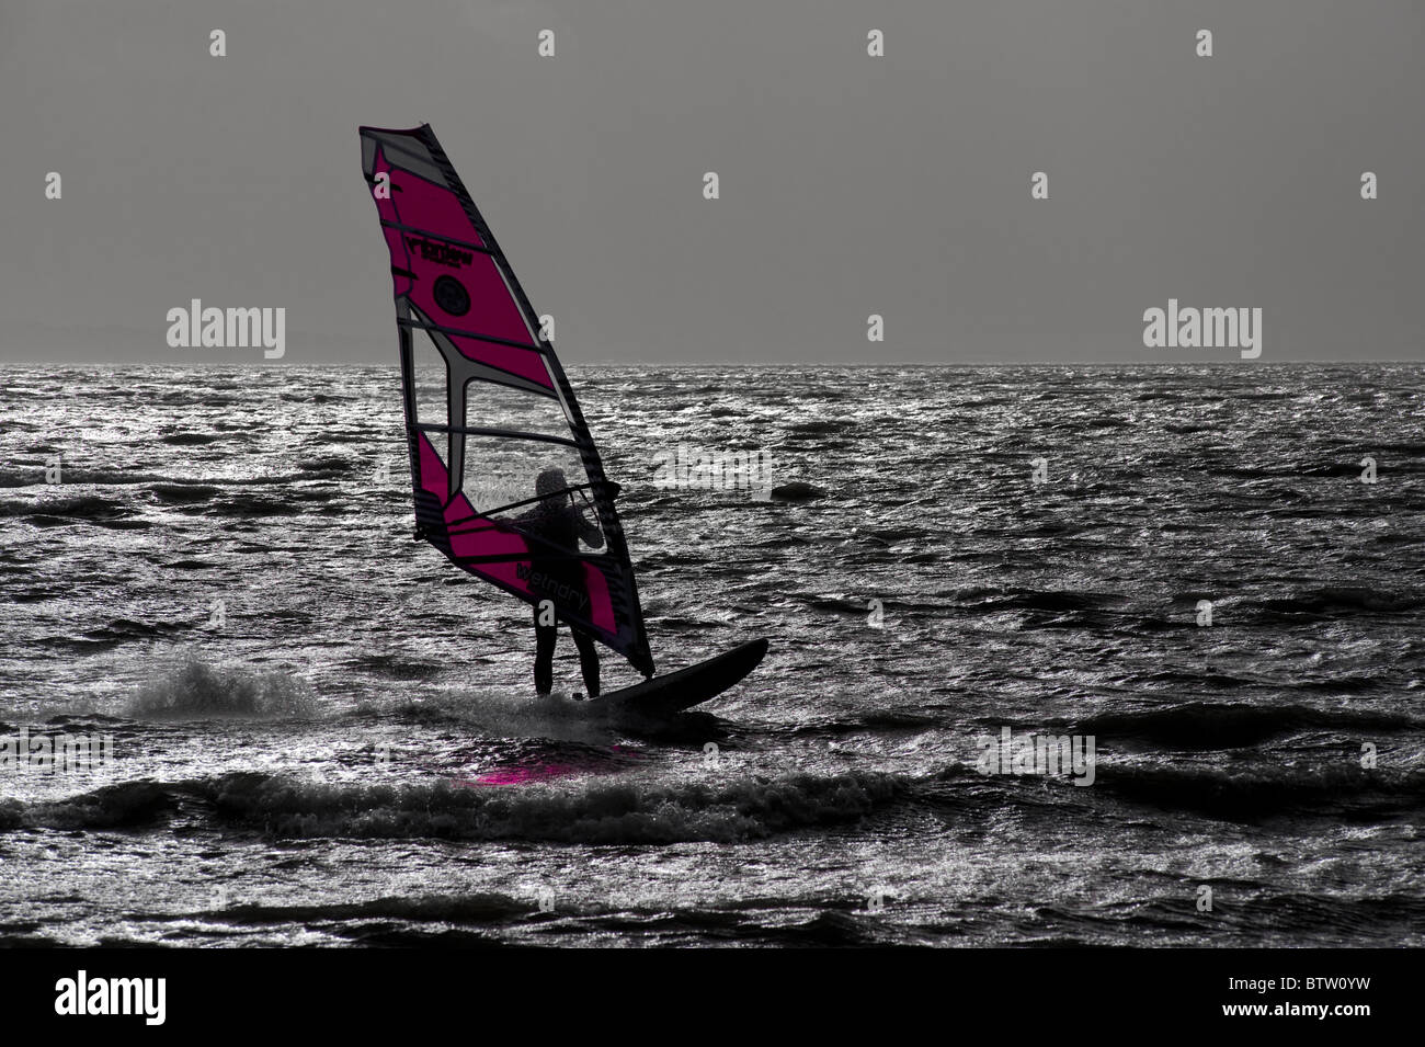
{"label": "plain grey overcast sky above the sea horizon", "polygon": [[3,0],[0,360],[393,362],[356,125],[422,121],[567,363],[1418,360],[1422,100],[1418,0]]}

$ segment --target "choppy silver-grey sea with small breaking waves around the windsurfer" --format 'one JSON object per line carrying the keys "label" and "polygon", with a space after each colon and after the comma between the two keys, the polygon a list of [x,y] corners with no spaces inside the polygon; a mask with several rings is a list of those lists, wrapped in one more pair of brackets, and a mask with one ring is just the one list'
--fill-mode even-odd
{"label": "choppy silver-grey sea with small breaking waves around the windsurfer", "polygon": [[570,379],[660,672],[770,641],[667,722],[393,368],[0,369],[0,944],[1425,944],[1421,366]]}

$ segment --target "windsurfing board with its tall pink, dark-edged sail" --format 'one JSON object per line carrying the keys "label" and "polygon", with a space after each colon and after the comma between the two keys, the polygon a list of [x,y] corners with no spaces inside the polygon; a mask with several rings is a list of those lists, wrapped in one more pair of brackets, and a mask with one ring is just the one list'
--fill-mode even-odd
{"label": "windsurfing board with its tall pink, dark-edged sail", "polygon": [[[361,147],[390,252],[416,536],[653,677],[618,486],[514,269],[429,124],[362,127]],[[693,674],[697,694],[745,671]]]}

